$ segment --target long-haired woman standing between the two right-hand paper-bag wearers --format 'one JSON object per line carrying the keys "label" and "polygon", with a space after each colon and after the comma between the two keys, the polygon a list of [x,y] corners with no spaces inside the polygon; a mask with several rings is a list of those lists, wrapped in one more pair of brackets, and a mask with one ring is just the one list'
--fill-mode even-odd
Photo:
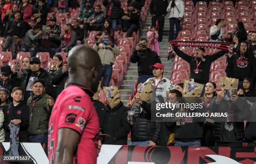
{"label": "long-haired woman standing between the two right-hand paper-bag wearers", "polygon": [[[205,94],[204,101],[205,107],[208,113],[212,113],[213,111],[213,103],[216,101],[216,84],[212,81],[205,84]],[[210,119],[205,120],[205,124],[203,126],[203,136],[201,141],[201,146],[214,146],[215,138],[213,136],[213,126],[214,124]]]}

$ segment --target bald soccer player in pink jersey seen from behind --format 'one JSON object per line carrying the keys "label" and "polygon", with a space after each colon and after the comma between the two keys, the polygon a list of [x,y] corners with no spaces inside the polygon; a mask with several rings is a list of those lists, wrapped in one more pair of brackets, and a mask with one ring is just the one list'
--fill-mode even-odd
{"label": "bald soccer player in pink jersey seen from behind", "polygon": [[69,85],[56,99],[49,121],[50,164],[96,164],[100,124],[92,104],[100,81],[100,56],[78,45],[69,51]]}

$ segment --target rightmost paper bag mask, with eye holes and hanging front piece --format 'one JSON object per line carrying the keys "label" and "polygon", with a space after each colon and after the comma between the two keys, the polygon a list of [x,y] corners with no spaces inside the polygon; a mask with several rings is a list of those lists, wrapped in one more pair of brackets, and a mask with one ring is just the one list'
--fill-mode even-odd
{"label": "rightmost paper bag mask, with eye holes and hanging front piece", "polygon": [[236,78],[220,77],[220,86],[225,89],[224,100],[229,101],[232,95],[237,95],[238,83]]}

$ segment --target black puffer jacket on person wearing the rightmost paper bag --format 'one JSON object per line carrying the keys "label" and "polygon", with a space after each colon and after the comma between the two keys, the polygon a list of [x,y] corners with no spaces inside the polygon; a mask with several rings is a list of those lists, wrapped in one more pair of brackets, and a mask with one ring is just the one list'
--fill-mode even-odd
{"label": "black puffer jacket on person wearing the rightmost paper bag", "polygon": [[[231,104],[230,104],[231,103]],[[233,125],[234,125],[234,131],[236,134],[236,141],[241,141],[244,138],[244,123],[243,120],[246,117],[246,114],[249,113],[248,105],[245,99],[238,97],[236,101],[225,101],[222,100],[220,105],[218,106],[218,112],[219,113],[225,113],[228,112],[228,108],[232,109],[233,111]],[[223,141],[223,132],[225,131],[225,121],[226,118],[223,118],[225,120],[221,122],[215,122],[214,123],[214,136],[216,141]]]}

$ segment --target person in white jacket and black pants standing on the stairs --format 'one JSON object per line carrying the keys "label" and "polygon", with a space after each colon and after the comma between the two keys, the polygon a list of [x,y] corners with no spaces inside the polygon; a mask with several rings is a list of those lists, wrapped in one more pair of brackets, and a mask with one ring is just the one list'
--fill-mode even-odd
{"label": "person in white jacket and black pants standing on the stairs", "polygon": [[[166,2],[164,1],[162,3],[164,3],[163,5],[165,5]],[[176,35],[177,36],[180,31],[180,22],[184,15],[184,2],[182,0],[172,0],[167,7],[167,12],[170,13],[170,15],[169,15],[169,23],[170,23],[169,41],[171,41],[171,40],[174,40],[174,37],[173,37],[174,36],[174,25],[176,27]],[[160,21],[162,21],[162,20],[160,20]],[[159,27],[160,27],[160,23],[159,23]],[[159,31],[159,33],[160,33],[160,31]]]}

